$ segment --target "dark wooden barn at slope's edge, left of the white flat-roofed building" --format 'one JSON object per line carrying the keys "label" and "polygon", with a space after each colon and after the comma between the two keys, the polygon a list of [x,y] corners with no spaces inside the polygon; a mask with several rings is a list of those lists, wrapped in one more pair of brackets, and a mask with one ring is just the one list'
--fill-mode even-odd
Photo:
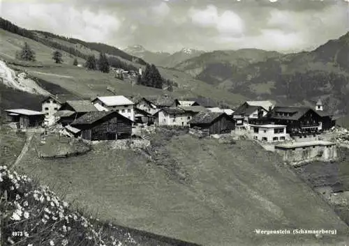
{"label": "dark wooden barn at slope's edge, left of the white flat-roofed building", "polygon": [[222,134],[235,129],[235,120],[221,112],[199,112],[188,124],[191,128],[208,130],[209,134]]}

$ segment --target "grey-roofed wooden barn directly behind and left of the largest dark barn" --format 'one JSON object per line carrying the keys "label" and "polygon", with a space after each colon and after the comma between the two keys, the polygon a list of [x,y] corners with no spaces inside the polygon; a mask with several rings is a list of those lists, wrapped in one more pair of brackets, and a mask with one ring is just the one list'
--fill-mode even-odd
{"label": "grey-roofed wooden barn directly behind and left of the largest dark barn", "polygon": [[58,123],[66,126],[87,112],[96,111],[98,109],[89,100],[68,100],[61,105],[59,111],[54,116]]}

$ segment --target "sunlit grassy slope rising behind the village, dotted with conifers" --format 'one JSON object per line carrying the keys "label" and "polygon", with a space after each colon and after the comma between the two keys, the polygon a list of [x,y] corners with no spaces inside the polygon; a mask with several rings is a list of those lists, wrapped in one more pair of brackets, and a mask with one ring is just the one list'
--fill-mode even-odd
{"label": "sunlit grassy slope rising behind the village, dotted with conifers", "polygon": [[[132,86],[131,83],[126,80],[121,81],[119,79],[115,79],[112,72],[109,74],[103,74],[98,71],[87,71],[84,68],[71,66],[70,64],[73,63],[73,58],[70,58],[70,54],[66,54],[65,52],[62,52],[64,54],[64,63],[60,65],[54,64],[51,56],[55,49],[47,47],[34,40],[24,38],[23,36],[4,31],[3,29],[0,29],[0,31],[4,40],[2,43],[5,47],[5,49],[1,49],[2,53],[0,53],[0,57],[6,61],[15,63],[13,68],[17,70],[25,70],[29,73],[29,75],[31,75],[31,77],[37,77],[38,79],[43,79],[52,84],[59,85],[82,98],[91,98],[96,95],[112,95],[107,88],[114,89],[117,94],[125,95],[159,95],[168,93],[163,90],[145,86]],[[47,36],[45,33],[38,33],[37,35],[39,35],[40,38],[45,38],[45,36]],[[85,46],[81,43],[70,43],[69,40],[58,38],[58,36],[47,36],[47,38],[54,40],[54,42],[59,43],[59,45],[70,45],[71,47],[74,47],[74,49],[78,49],[79,52],[86,52],[86,54],[89,54],[89,52],[94,52],[94,54],[98,53],[96,50],[85,49]],[[24,42],[28,42],[31,48],[36,52],[36,62],[26,62],[24,64],[22,61],[17,61],[15,59],[15,52],[22,48],[22,44],[24,44]],[[102,44],[97,44],[95,46],[97,48],[104,47]],[[33,67],[30,67],[31,65]],[[138,66],[140,65],[138,64]],[[195,80],[184,72],[165,68],[159,68],[159,70],[165,79],[172,79],[174,82],[179,84],[178,88],[174,87],[173,93],[168,93],[170,95],[172,94],[174,96],[182,95],[190,97],[201,95],[216,101],[223,100],[225,103],[232,106],[238,105],[239,102],[245,99],[241,95],[235,95],[233,93],[227,93],[224,90],[214,89],[214,87]],[[54,91],[50,92],[54,93]]]}

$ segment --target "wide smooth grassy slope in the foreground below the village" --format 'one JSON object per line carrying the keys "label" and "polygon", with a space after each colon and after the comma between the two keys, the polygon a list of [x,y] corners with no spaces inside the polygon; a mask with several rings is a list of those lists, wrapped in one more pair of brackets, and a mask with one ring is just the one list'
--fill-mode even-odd
{"label": "wide smooth grassy slope in the foreground below the village", "polygon": [[[151,137],[159,153],[150,152],[155,162],[109,143],[80,157],[50,161],[38,159],[31,148],[19,167],[102,220],[193,243],[334,245],[348,237],[348,227],[325,201],[257,144],[171,135]],[[338,235],[315,239],[254,232],[279,228],[330,228]]]}

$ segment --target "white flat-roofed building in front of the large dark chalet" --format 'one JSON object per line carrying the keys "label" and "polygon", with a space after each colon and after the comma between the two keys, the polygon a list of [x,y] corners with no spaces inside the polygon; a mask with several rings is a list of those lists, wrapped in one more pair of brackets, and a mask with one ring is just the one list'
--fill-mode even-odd
{"label": "white flat-roofed building in front of the large dark chalet", "polygon": [[253,129],[253,139],[260,141],[274,142],[274,141],[285,141],[286,125],[250,125]]}

